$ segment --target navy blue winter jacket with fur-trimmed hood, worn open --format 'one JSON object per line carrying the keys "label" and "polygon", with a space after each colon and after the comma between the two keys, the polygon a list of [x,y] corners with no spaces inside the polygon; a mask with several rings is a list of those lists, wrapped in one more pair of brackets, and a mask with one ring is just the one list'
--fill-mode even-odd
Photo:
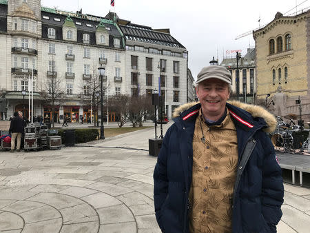
{"label": "navy blue winter jacket with fur-trimmed hood, worn open", "polygon": [[[239,157],[231,203],[232,232],[276,232],[284,188],[281,168],[266,134],[273,132],[276,119],[259,106],[234,102],[227,103],[227,108],[236,126]],[[154,204],[163,232],[189,232],[192,141],[199,109],[200,103],[180,107],[158,155]]]}

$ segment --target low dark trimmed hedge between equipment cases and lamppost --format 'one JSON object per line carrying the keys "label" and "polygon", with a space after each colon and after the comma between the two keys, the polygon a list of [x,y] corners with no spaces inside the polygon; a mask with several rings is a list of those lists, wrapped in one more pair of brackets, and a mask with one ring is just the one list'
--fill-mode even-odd
{"label": "low dark trimmed hedge between equipment cases and lamppost", "polygon": [[[58,135],[61,136],[61,141],[65,143],[65,130],[58,130]],[[75,143],[86,143],[98,139],[98,129],[75,129]]]}

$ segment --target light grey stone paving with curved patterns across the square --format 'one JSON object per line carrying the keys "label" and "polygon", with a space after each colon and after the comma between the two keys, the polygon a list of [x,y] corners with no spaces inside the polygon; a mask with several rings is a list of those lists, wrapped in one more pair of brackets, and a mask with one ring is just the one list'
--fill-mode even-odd
{"label": "light grey stone paving with curved patterns across the square", "polygon": [[[161,232],[153,137],[152,128],[61,150],[0,152],[0,232]],[[310,190],[285,190],[278,232],[308,232]]]}

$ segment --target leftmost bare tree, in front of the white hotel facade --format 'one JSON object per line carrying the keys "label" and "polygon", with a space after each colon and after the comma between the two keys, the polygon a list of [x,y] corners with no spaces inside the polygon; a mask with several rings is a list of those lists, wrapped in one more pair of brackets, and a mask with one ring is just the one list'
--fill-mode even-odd
{"label": "leftmost bare tree, in front of the white hotel facade", "polygon": [[63,95],[65,94],[65,87],[63,86],[61,77],[56,75],[54,62],[54,57],[52,57],[52,71],[48,71],[50,75],[48,75],[48,79],[43,83],[41,90],[43,103],[52,106],[51,123],[53,128],[55,107],[63,102]]}

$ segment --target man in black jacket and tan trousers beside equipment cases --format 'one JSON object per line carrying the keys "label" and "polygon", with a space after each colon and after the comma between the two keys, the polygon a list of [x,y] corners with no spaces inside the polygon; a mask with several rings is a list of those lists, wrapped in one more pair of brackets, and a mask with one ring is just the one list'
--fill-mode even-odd
{"label": "man in black jacket and tan trousers beside equipment cases", "polygon": [[23,114],[21,112],[14,112],[14,118],[10,123],[9,129],[9,134],[12,135],[10,152],[14,152],[15,150],[15,139],[17,139],[17,152],[21,151],[21,136],[25,127],[25,123],[22,117]]}

